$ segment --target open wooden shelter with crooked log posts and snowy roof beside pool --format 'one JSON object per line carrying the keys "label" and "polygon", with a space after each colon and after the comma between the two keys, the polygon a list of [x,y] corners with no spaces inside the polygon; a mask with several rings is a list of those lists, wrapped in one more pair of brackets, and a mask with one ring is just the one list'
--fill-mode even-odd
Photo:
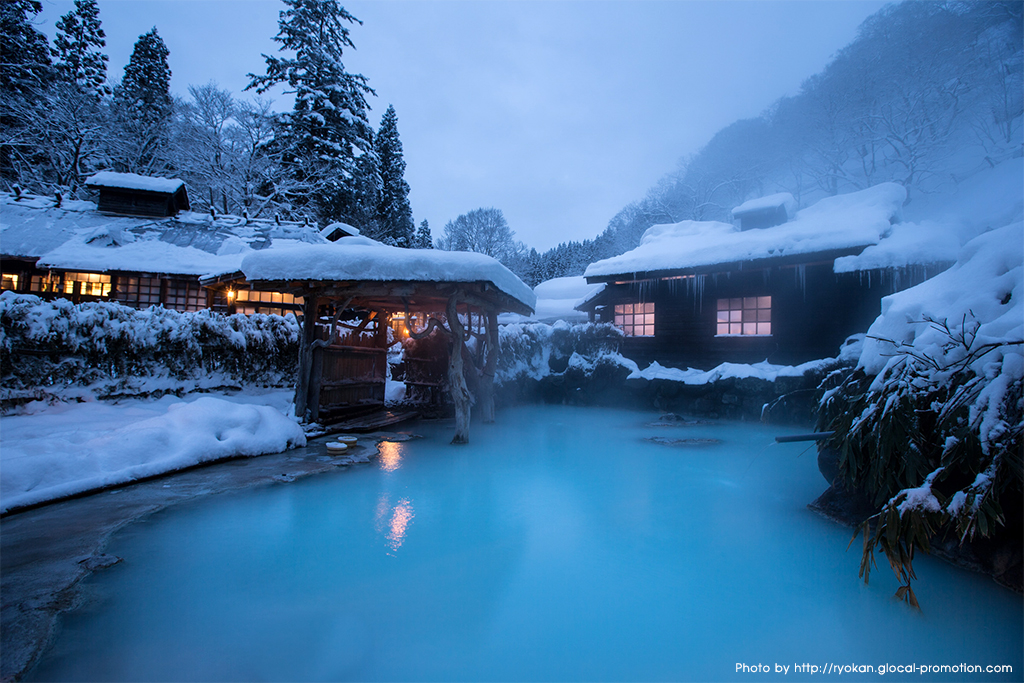
{"label": "open wooden shelter with crooked log posts and snowy roof beside pool", "polygon": [[[335,244],[267,250],[242,263],[254,290],[302,297],[303,325],[296,415],[331,423],[383,410],[388,330],[393,317],[401,334],[449,340],[447,390],[456,410],[454,443],[469,440],[470,393],[465,359],[476,336],[483,358],[477,403],[494,421],[498,314],[528,315],[532,290],[482,254],[387,247],[365,238]],[[421,321],[419,329],[409,325]]]}

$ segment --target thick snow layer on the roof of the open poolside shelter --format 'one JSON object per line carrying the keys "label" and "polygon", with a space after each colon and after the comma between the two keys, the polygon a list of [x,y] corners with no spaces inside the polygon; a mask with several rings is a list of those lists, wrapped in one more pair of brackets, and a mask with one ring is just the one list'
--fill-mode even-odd
{"label": "thick snow layer on the roof of the open poolside shelter", "polygon": [[489,256],[401,249],[359,237],[251,253],[242,271],[250,281],[486,282],[530,309],[537,304],[534,291]]}

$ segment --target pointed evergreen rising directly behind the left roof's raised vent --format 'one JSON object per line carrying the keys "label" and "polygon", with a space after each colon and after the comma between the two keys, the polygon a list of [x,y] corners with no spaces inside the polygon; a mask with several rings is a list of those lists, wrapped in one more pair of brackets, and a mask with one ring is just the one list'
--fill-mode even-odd
{"label": "pointed evergreen rising directly behind the left roof's raised vent", "polygon": [[116,143],[111,156],[119,171],[159,175],[168,168],[171,99],[170,50],[154,27],[139,36],[121,84],[114,89]]}

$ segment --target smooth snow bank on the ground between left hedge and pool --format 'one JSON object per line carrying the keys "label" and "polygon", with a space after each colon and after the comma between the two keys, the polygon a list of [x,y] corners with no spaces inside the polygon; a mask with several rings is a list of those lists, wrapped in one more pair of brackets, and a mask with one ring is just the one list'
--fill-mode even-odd
{"label": "smooth snow bank on the ground between left hedge and pool", "polygon": [[291,391],[23,407],[2,419],[0,512],[305,445]]}

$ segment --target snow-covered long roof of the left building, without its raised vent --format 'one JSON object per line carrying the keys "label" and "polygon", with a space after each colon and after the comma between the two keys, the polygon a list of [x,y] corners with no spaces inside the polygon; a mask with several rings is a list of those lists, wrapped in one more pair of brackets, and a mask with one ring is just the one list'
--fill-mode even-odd
{"label": "snow-covered long roof of the left building, without its raised vent", "polygon": [[110,216],[91,202],[0,194],[0,252],[40,267],[211,276],[237,272],[250,252],[328,244],[314,227],[181,212],[171,218]]}

